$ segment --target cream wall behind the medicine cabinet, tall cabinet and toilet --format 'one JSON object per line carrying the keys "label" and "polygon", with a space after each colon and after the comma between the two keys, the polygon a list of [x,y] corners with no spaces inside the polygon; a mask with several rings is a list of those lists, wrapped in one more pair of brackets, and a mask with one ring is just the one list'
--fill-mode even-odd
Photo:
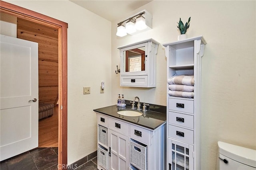
{"label": "cream wall behind the medicine cabinet, tall cabinet and toilet", "polygon": [[256,149],[256,2],[255,1],[153,1],[127,14],[147,10],[153,16],[153,29],[117,37],[112,22],[112,104],[117,94],[127,100],[139,96],[142,102],[166,106],[166,57],[159,46],[156,88],[120,87],[117,47],[153,38],[168,43],[177,40],[179,18],[191,16],[188,37],[206,39],[202,58],[201,168],[213,170],[217,141]]}

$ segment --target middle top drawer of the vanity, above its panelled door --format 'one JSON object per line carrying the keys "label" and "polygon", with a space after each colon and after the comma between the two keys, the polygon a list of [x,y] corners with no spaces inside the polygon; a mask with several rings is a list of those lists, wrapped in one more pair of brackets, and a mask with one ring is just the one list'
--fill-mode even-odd
{"label": "middle top drawer of the vanity, above its panelled door", "polygon": [[113,129],[114,131],[117,131],[124,135],[129,135],[129,124],[125,123],[123,121],[109,118],[108,119],[108,127],[109,127],[109,129]]}

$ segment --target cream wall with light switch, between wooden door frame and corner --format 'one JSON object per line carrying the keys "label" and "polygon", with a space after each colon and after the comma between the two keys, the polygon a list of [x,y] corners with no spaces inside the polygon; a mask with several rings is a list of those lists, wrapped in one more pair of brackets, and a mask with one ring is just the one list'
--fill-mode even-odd
{"label": "cream wall with light switch, between wooden door frame and corner", "polygon": [[[68,164],[97,150],[96,113],[111,96],[111,22],[68,1],[7,1],[68,23]],[[100,83],[105,93],[100,94]],[[83,94],[89,86],[91,93]]]}

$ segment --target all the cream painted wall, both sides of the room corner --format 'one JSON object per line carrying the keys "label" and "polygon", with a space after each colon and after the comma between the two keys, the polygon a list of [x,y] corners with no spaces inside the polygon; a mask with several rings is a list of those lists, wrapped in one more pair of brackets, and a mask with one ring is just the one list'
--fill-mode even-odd
{"label": "all the cream painted wall, both sides of the room corner", "polygon": [[[215,169],[217,141],[256,149],[255,1],[153,1],[127,14],[146,9],[153,15],[153,29],[122,38],[116,37],[116,26],[126,18],[110,23],[67,0],[7,2],[68,23],[68,164],[96,150],[92,109],[116,104],[117,94],[166,106],[163,47],[158,47],[156,88],[119,86],[117,47],[148,38],[161,44],[176,41],[176,22],[190,16],[188,37],[203,35],[207,41],[202,59],[202,170]],[[104,94],[99,93],[101,81]],[[83,95],[83,86],[90,86],[91,94]]]}

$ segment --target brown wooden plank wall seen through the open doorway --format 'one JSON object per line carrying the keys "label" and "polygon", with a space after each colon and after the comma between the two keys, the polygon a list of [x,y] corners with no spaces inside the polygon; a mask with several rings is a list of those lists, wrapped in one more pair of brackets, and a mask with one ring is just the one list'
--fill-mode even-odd
{"label": "brown wooden plank wall seen through the open doorway", "polygon": [[38,43],[39,103],[58,101],[58,30],[17,18],[17,38]]}

